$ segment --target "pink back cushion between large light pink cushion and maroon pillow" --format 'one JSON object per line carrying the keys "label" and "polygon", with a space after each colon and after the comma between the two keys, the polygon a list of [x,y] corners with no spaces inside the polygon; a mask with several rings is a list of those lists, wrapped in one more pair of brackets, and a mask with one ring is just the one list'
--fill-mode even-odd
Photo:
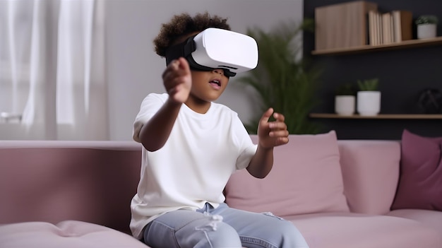
{"label": "pink back cushion between large light pink cushion and maroon pillow", "polygon": [[338,141],[344,194],[354,213],[390,211],[399,178],[399,141]]}

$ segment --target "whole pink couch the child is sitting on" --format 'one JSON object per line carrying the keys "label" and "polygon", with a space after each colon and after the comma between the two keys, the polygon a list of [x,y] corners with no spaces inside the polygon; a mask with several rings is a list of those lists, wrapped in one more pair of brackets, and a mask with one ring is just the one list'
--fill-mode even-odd
{"label": "whole pink couch the child is sitting on", "polygon": [[[227,203],[292,221],[311,248],[442,247],[441,212],[390,211],[400,143],[335,137],[290,136],[268,177],[232,175]],[[130,141],[0,141],[0,247],[145,248],[128,227],[140,163]]]}

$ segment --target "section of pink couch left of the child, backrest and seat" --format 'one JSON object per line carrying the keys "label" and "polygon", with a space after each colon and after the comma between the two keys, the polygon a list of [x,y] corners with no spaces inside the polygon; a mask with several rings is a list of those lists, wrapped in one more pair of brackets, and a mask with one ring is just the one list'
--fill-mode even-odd
{"label": "section of pink couch left of the child, backrest and seat", "polygon": [[129,205],[141,146],[0,141],[0,247],[140,247]]}

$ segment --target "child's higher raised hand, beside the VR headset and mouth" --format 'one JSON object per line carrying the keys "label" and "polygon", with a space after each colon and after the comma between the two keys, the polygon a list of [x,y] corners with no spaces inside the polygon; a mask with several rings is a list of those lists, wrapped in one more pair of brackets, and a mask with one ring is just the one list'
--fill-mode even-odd
{"label": "child's higher raised hand, beside the VR headset and mouth", "polygon": [[176,103],[186,102],[192,87],[191,70],[186,59],[180,57],[170,62],[162,73],[162,81],[169,100]]}

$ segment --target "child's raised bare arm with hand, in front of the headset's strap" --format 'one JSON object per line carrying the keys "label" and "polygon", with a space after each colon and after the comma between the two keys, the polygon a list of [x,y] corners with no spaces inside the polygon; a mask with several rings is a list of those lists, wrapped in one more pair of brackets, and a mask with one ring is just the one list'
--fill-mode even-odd
{"label": "child's raised bare arm with hand, in front of the headset's strap", "polygon": [[140,130],[141,143],[149,151],[155,151],[169,138],[181,105],[189,98],[191,71],[186,59],[172,61],[162,73],[169,98],[158,112]]}

